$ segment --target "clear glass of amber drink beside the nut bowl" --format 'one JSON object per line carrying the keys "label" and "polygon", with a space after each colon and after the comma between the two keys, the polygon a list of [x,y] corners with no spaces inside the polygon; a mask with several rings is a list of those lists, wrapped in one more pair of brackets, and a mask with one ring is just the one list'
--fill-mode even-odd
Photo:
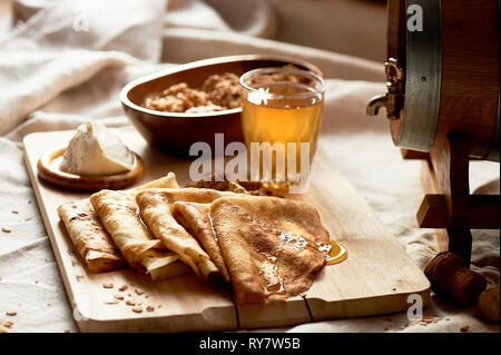
{"label": "clear glass of amber drink beside the nut bowl", "polygon": [[240,86],[250,180],[303,193],[297,187],[307,184],[316,151],[324,79],[301,69],[262,68],[244,73]]}

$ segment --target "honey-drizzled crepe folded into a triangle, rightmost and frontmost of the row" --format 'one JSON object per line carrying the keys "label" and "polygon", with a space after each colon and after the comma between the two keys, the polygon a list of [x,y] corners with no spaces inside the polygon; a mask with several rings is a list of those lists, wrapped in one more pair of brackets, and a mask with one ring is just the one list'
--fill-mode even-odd
{"label": "honey-drizzled crepe folded into a triangle, rightmost and frontmost of the row", "polygon": [[240,195],[216,199],[210,216],[239,305],[305,293],[325,265],[328,231],[308,204]]}

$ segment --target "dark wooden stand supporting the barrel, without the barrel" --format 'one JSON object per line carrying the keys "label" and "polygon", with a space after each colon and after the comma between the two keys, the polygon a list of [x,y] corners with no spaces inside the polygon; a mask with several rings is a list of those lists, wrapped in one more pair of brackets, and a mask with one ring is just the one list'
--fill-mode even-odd
{"label": "dark wooden stand supporting the barrel, without the barrel", "polygon": [[470,229],[500,228],[500,195],[470,195],[469,148],[460,132],[446,136],[445,149],[422,152],[402,149],[404,159],[422,159],[425,196],[418,210],[420,228],[435,228],[439,250],[450,250],[469,266]]}

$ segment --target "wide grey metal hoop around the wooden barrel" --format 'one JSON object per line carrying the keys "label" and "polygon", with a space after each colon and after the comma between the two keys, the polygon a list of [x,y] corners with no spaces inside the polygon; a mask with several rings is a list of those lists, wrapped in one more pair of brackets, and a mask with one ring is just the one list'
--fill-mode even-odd
{"label": "wide grey metal hoop around the wooden barrel", "polygon": [[405,103],[399,147],[429,151],[439,119],[442,81],[441,1],[406,0],[420,6],[423,30],[406,29]]}

